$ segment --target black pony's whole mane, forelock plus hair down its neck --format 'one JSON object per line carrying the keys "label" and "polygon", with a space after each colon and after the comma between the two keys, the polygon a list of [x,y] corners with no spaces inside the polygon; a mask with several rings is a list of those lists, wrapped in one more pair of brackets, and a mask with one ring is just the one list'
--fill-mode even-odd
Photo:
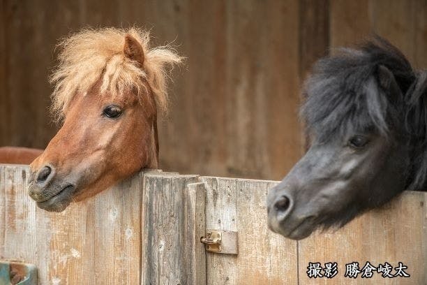
{"label": "black pony's whole mane, forelock plus hair down its neck", "polygon": [[[378,85],[378,66],[393,73],[403,94],[394,102]],[[379,36],[357,49],[317,61],[304,86],[301,117],[317,140],[325,141],[347,129],[374,128],[384,136],[399,130],[410,138],[407,189],[427,186],[427,71],[415,72],[391,43]]]}

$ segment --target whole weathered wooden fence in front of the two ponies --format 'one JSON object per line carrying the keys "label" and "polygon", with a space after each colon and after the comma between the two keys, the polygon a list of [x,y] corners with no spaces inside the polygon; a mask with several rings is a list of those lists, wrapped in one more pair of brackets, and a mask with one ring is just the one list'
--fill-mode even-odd
{"label": "whole weathered wooden fence in front of the two ponies", "polygon": [[[27,166],[0,166],[0,259],[33,263],[39,284],[427,284],[427,193],[299,242],[267,228],[277,182],[149,171],[61,213],[27,196]],[[238,254],[207,252],[208,230],[238,233]],[[401,262],[409,278],[344,277],[345,264]],[[309,263],[338,263],[309,278]]]}

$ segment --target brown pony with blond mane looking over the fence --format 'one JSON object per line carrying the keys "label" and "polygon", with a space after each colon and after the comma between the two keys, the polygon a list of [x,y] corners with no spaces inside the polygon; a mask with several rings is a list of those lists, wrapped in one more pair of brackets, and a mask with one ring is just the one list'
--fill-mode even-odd
{"label": "brown pony with blond mane looking over the fence", "polygon": [[149,47],[140,29],[84,30],[59,45],[52,110],[63,126],[31,163],[29,195],[61,212],[141,168],[158,168],[157,108],[165,67],[181,57]]}

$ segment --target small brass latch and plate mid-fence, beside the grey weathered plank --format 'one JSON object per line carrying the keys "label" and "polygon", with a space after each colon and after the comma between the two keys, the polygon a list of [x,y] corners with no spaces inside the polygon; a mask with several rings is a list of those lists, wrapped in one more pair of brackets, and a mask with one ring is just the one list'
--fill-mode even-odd
{"label": "small brass latch and plate mid-fence, beside the grey weathered plank", "polygon": [[218,254],[238,254],[239,244],[237,232],[208,230],[205,237],[200,238],[204,248]]}

